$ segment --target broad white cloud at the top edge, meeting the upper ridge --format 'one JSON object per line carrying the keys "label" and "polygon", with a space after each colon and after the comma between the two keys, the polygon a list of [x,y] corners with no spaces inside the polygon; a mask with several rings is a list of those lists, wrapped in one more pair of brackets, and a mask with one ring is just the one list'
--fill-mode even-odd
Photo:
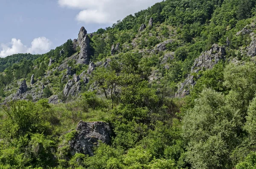
{"label": "broad white cloud at the top edge, meeting the upper ridge", "polygon": [[58,0],[60,6],[81,9],[76,20],[84,23],[115,23],[129,14],[162,0]]}

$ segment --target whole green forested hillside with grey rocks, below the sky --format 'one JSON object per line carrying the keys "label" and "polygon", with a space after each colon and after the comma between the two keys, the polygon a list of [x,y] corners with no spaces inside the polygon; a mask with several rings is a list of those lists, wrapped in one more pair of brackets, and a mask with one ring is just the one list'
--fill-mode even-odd
{"label": "whole green forested hillside with grey rocks, below the sky", "polygon": [[255,169],[256,0],[164,0],[0,59],[1,169]]}

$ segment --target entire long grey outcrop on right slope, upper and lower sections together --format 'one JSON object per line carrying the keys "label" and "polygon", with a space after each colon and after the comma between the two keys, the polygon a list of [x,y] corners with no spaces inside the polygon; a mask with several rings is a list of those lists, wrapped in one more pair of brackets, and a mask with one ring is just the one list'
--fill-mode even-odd
{"label": "entire long grey outcrop on right slope, upper and lower sections together", "polygon": [[[224,60],[226,51],[223,47],[213,44],[209,51],[203,52],[200,57],[198,57],[194,65],[191,68],[191,73],[198,73],[203,69],[212,69],[212,67],[217,64],[219,61]],[[185,81],[180,84],[179,89],[176,93],[176,97],[184,97],[189,94],[189,89],[192,86],[195,86],[195,80],[191,74],[188,74]]]}

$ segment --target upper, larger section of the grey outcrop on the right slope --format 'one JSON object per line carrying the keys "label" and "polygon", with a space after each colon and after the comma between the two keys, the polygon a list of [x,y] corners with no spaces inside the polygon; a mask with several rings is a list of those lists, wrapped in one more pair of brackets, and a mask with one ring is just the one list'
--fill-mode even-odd
{"label": "upper, larger section of the grey outcrop on the right slope", "polygon": [[195,60],[191,72],[199,72],[201,69],[212,69],[220,60],[224,60],[226,51],[223,47],[213,44],[209,51],[205,51]]}

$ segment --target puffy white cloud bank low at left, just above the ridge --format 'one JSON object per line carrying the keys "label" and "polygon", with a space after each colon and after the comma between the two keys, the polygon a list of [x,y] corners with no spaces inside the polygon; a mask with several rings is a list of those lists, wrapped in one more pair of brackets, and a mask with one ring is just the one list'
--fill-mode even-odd
{"label": "puffy white cloud bank low at left, just above the ridge", "polygon": [[35,38],[29,48],[23,45],[20,39],[12,38],[12,42],[0,44],[0,57],[17,53],[43,54],[48,52],[51,47],[52,42],[46,37]]}

